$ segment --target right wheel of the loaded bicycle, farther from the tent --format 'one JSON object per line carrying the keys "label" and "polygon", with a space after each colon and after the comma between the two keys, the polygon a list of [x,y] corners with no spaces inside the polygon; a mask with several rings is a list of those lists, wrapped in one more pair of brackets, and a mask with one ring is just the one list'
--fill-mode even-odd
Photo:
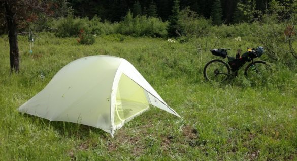
{"label": "right wheel of the loaded bicycle, farther from the tent", "polygon": [[273,73],[267,62],[254,61],[245,68],[244,74],[252,86],[258,86],[266,84]]}

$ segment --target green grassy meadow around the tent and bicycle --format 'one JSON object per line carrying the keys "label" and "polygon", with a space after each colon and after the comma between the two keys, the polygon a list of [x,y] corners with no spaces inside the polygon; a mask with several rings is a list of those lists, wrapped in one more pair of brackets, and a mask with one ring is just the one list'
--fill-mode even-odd
{"label": "green grassy meadow around the tent and bicycle", "polygon": [[[243,77],[223,84],[204,81],[203,67],[215,47],[256,46],[211,37],[170,44],[166,39],[121,35],[75,38],[40,34],[30,54],[19,37],[20,73],[10,75],[9,45],[0,39],[0,160],[296,160],[296,69],[274,67],[263,86]],[[64,65],[90,55],[131,62],[181,119],[157,108],[136,117],[112,138],[89,126],[49,122],[17,108],[42,90]],[[269,60],[266,56],[264,60]],[[42,79],[40,76],[44,75]]]}

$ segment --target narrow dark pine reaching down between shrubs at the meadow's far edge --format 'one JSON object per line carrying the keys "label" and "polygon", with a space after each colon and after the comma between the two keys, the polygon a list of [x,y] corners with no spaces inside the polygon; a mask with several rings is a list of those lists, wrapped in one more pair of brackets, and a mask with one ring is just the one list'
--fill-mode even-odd
{"label": "narrow dark pine reaching down between shrubs at the meadow's far edge", "polygon": [[172,14],[169,16],[169,25],[167,28],[169,37],[179,36],[178,17],[179,17],[179,0],[173,1]]}

